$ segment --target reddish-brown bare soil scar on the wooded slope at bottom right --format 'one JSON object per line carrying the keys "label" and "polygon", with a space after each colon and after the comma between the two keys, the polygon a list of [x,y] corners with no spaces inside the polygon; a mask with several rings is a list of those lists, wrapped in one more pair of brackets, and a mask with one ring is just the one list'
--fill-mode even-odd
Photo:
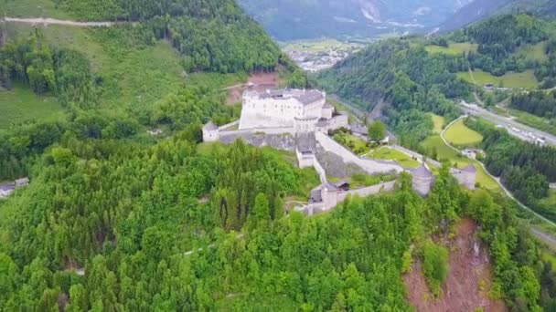
{"label": "reddish-brown bare soil scar on the wooded slope at bottom right", "polygon": [[416,311],[508,311],[502,300],[488,296],[492,285],[490,257],[487,245],[475,237],[476,230],[474,221],[464,219],[457,224],[454,239],[444,242],[450,250],[450,271],[440,297],[435,298],[429,290],[420,261],[403,276],[408,301]]}

